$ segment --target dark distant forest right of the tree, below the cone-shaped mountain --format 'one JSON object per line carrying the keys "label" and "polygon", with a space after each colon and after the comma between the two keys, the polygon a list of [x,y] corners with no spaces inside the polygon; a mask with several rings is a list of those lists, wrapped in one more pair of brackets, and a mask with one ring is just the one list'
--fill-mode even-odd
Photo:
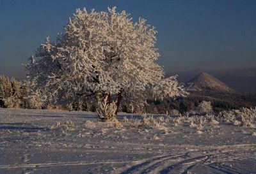
{"label": "dark distant forest right of the tree, below the cone-shaped mountain", "polygon": [[256,106],[255,93],[223,93],[216,91],[193,91],[189,96],[184,98],[175,98],[164,101],[148,100],[149,105],[146,106],[148,112],[163,113],[168,110],[179,110],[181,113],[195,110],[202,101],[211,101],[212,108],[215,112],[223,110],[253,108]]}

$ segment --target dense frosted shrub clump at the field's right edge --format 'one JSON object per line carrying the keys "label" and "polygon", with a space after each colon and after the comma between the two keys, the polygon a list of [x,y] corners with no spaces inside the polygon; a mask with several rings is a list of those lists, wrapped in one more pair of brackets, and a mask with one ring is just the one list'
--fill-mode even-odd
{"label": "dense frosted shrub clump at the field's right edge", "polygon": [[236,126],[253,127],[256,121],[256,108],[223,111],[218,114],[218,120],[232,122]]}

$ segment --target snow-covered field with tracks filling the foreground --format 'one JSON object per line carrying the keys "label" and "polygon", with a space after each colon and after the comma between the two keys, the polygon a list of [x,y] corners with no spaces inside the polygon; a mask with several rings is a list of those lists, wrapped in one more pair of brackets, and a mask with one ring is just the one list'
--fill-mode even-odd
{"label": "snow-covered field with tracks filling the foreground", "polygon": [[95,113],[3,108],[0,122],[0,173],[256,173],[255,128],[118,128]]}

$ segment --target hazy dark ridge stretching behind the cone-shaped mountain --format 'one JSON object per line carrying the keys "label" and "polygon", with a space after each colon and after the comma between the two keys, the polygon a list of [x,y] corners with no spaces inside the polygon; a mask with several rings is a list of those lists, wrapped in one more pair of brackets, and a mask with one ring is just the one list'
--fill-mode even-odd
{"label": "hazy dark ridge stretching behind the cone-shaped mountain", "polygon": [[[179,75],[179,82],[185,83],[203,71],[205,70],[194,69],[191,71],[170,71],[166,73],[166,76]],[[211,69],[205,72],[218,78],[218,80],[237,92],[256,92],[256,68]]]}

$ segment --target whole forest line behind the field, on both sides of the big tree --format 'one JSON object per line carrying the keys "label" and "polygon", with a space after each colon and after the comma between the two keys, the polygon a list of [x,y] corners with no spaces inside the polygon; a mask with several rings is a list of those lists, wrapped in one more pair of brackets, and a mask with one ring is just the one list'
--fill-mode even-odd
{"label": "whole forest line behind the field, on both sides of the big tree", "polygon": [[[138,106],[131,110],[128,106],[121,105],[120,112],[147,112],[170,113],[178,110],[180,113],[191,112],[202,101],[211,101],[215,112],[223,110],[254,108],[256,106],[256,93],[223,93],[216,91],[190,92],[189,96],[174,99],[155,100],[148,99],[147,105]],[[96,106],[86,101],[73,103],[76,110],[95,112]],[[29,85],[26,81],[19,82],[15,78],[0,76],[0,106],[2,108],[58,108],[68,110],[65,106],[45,106],[35,96],[29,95]]]}

